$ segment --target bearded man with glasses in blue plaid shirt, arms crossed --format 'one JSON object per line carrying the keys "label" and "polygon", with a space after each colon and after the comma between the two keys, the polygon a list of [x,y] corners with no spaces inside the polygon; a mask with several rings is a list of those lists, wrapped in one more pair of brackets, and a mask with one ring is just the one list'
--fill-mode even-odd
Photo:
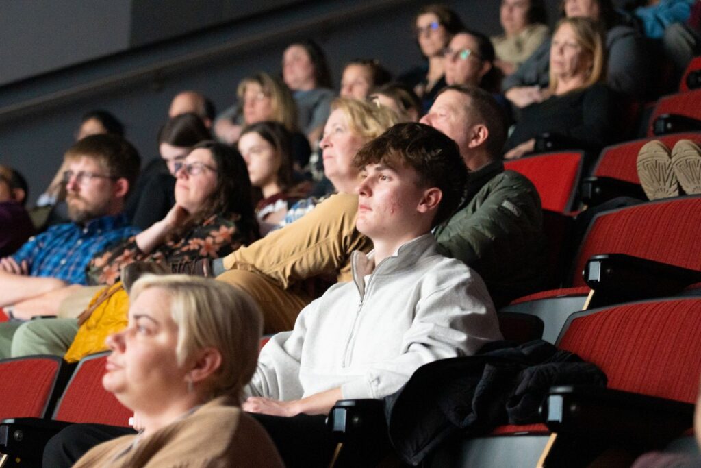
{"label": "bearded man with glasses in blue plaid shirt, arms crossed", "polygon": [[25,312],[32,308],[15,305],[34,301],[39,306],[42,296],[59,288],[68,295],[71,289],[65,286],[86,284],[86,265],[96,253],[138,232],[122,213],[139,173],[139,154],[129,142],[115,135],[91,135],[76,142],[65,161],[71,222],[50,227],[0,259],[0,307],[11,317],[0,324],[0,359],[9,357],[15,330],[32,315]]}

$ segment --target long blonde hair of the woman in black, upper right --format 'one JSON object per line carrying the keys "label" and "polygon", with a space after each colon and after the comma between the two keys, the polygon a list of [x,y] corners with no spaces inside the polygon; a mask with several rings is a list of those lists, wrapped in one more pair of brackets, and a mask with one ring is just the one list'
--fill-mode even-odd
{"label": "long blonde hair of the woman in black, upper right", "polygon": [[[578,89],[588,88],[594,83],[606,79],[606,48],[604,47],[604,32],[597,22],[590,18],[562,18],[554,31],[562,25],[570,25],[577,38],[577,44],[592,58],[592,67],[588,70],[585,83]],[[554,36],[554,33],[553,33]],[[557,88],[557,78],[550,70],[550,91]],[[573,90],[575,91],[575,90]]]}

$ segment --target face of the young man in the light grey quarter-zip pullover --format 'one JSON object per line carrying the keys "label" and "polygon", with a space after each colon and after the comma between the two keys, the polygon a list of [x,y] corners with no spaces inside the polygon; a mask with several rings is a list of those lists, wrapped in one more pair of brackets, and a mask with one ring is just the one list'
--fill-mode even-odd
{"label": "face of the young man in the light grey quarter-zip pullover", "polygon": [[[413,168],[389,168],[381,164],[368,164],[362,171],[363,179],[356,191],[358,199],[358,231],[373,241],[408,241],[417,227],[428,227],[432,213],[426,213],[421,204],[425,187],[418,187],[418,175]],[[421,229],[419,229],[421,230]]]}

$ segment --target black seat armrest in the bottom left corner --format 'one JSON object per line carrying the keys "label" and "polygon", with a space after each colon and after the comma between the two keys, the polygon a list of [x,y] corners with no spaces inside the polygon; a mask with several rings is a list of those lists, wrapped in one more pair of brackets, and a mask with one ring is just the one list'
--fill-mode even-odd
{"label": "black seat armrest in the bottom left corner", "polygon": [[19,458],[23,466],[40,467],[43,448],[61,429],[72,422],[39,417],[15,417],[0,422],[0,453]]}

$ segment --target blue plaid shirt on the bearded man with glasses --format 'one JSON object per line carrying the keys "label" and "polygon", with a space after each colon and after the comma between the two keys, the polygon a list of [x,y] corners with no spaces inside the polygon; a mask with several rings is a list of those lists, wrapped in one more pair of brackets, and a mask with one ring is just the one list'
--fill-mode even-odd
{"label": "blue plaid shirt on the bearded man with glasses", "polygon": [[18,263],[27,260],[30,276],[87,284],[86,267],[93,256],[138,232],[127,224],[125,215],[102,216],[85,226],[66,222],[30,238],[12,256]]}

